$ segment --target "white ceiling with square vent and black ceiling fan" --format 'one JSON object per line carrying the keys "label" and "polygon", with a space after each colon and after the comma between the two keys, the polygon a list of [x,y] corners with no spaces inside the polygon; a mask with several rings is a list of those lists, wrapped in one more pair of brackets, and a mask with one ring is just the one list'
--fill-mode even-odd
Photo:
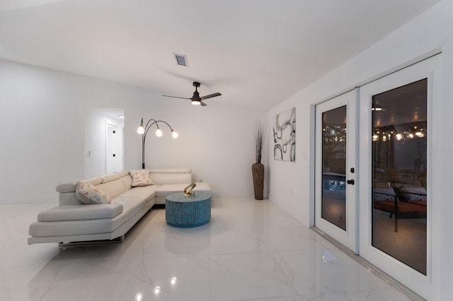
{"label": "white ceiling with square vent and black ceiling fan", "polygon": [[265,111],[436,2],[0,0],[0,59]]}

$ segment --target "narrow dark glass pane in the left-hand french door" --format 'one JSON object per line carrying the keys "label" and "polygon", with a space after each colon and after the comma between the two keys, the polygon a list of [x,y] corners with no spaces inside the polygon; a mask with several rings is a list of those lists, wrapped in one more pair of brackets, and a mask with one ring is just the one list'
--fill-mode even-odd
{"label": "narrow dark glass pane in the left-hand french door", "polygon": [[323,112],[321,218],[346,230],[346,106]]}

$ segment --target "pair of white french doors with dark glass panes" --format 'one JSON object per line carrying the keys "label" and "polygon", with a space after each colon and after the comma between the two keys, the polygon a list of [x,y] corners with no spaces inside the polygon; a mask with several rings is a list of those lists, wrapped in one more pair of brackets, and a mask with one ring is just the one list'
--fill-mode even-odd
{"label": "pair of white french doors with dark glass panes", "polygon": [[427,299],[440,268],[441,73],[437,55],[315,108],[316,228]]}

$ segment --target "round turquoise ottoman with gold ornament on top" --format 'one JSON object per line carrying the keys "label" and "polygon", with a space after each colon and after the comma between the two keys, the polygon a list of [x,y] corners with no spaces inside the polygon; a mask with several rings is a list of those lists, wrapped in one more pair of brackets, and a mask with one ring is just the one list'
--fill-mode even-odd
{"label": "round turquoise ottoman with gold ornament on top", "polygon": [[211,218],[211,194],[195,192],[186,197],[183,193],[170,194],[165,198],[165,220],[175,227],[197,227]]}

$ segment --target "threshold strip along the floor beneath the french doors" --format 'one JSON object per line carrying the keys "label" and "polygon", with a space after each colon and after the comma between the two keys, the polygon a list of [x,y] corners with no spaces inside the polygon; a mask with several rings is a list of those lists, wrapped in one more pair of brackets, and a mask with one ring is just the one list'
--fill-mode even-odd
{"label": "threshold strip along the floor beneath the french doors", "polygon": [[324,233],[323,231],[319,230],[316,227],[311,227],[310,229],[314,230],[314,232],[318,233],[323,238],[325,238],[326,240],[328,240],[329,242],[334,244],[336,247],[338,247],[338,249],[343,251],[345,254],[348,254],[352,259],[355,259],[355,261],[357,261],[360,264],[362,264],[362,266],[365,266],[369,271],[371,271],[375,275],[379,276],[379,278],[382,278],[383,281],[385,281],[386,283],[389,283],[394,288],[399,290],[401,293],[403,293],[404,295],[410,297],[412,300],[414,300],[414,301],[426,301],[425,299],[423,299],[423,297],[420,297],[420,295],[417,295],[412,290],[407,288],[406,285],[403,285],[401,282],[399,282],[395,278],[389,276],[389,274],[385,273],[380,268],[377,268],[377,266],[374,266],[373,264],[370,264],[368,261],[366,261],[365,259],[363,259],[359,255],[354,254],[354,252],[352,252],[350,249],[348,249],[348,247],[346,247],[344,244],[341,244],[340,242],[334,240],[332,237],[326,235],[326,233]]}

